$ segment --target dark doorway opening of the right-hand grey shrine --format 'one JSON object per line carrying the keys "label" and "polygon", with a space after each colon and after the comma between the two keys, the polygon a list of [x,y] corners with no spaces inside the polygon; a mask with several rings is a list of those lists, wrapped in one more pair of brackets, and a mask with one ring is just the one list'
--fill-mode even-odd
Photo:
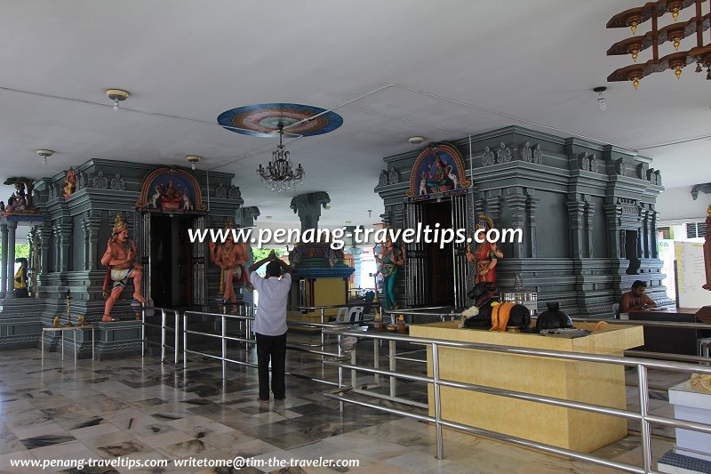
{"label": "dark doorway opening of the right-hand grey shrine", "polygon": [[[425,211],[424,225],[429,229],[451,229],[451,200],[429,202],[423,205]],[[437,227],[439,224],[439,227]],[[430,239],[434,240],[434,230]],[[454,261],[452,245],[440,248],[439,239],[436,242],[425,243],[427,254],[427,304],[433,306],[454,305]]]}

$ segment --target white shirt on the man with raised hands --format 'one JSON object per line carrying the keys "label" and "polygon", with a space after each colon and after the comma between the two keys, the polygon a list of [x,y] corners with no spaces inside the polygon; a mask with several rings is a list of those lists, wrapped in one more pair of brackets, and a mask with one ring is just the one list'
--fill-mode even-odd
{"label": "white shirt on the man with raised hands", "polygon": [[260,277],[252,271],[250,282],[260,294],[257,315],[254,317],[253,331],[266,336],[280,336],[286,333],[286,303],[292,288],[292,276],[284,273],[281,278]]}

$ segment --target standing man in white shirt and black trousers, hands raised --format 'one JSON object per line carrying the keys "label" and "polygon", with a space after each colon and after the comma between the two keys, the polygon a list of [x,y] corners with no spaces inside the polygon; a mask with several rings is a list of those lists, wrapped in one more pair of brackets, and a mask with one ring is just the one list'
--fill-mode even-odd
{"label": "standing man in white shirt and black trousers, hands raised", "polygon": [[[267,275],[260,277],[256,270],[267,263]],[[284,270],[284,275],[282,275]],[[254,262],[249,268],[250,281],[259,294],[254,334],[257,337],[257,366],[260,379],[260,401],[269,401],[269,361],[271,360],[271,389],[275,400],[283,400],[286,392],[286,304],[292,287],[292,267],[276,258],[272,251],[267,258]]]}

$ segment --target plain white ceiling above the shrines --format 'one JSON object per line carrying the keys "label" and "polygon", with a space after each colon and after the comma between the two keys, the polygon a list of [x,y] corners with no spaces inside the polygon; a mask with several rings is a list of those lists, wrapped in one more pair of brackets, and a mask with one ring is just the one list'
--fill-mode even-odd
{"label": "plain white ceiling above the shrines", "polygon": [[[186,155],[199,155],[201,169],[235,173],[261,223],[293,226],[292,196],[326,191],[332,209],[321,224],[368,224],[383,211],[372,192],[382,157],[417,149],[408,137],[450,141],[523,125],[640,149],[667,187],[711,181],[705,74],[655,74],[636,92],[606,84],[630,59],[605,52],[631,33],[605,23],[638,4],[3,0],[2,178],[52,176],[92,157],[187,165]],[[605,112],[598,85],[609,87]],[[108,88],[131,92],[117,113]],[[291,193],[269,191],[255,172],[276,138],[217,125],[229,108],[266,102],[336,108],[344,119],[332,133],[286,144],[307,173]],[[657,147],[699,137],[707,138]],[[42,165],[35,149],[56,154]]]}

